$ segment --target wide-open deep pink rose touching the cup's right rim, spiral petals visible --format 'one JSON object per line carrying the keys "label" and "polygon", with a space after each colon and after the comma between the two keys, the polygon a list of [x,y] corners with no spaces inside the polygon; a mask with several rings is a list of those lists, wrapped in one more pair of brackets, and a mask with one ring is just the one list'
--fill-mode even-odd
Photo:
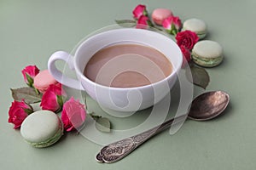
{"label": "wide-open deep pink rose touching the cup's right rim, spiral petals visible", "polygon": [[189,50],[191,50],[195,43],[199,40],[199,37],[196,35],[196,33],[189,30],[178,32],[175,38],[179,47],[184,46]]}

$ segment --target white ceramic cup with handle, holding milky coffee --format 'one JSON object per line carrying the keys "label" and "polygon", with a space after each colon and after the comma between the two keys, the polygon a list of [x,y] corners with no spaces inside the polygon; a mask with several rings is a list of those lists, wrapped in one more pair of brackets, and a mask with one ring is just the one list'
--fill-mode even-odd
{"label": "white ceramic cup with handle, holding milky coffee", "polygon": [[[143,44],[155,48],[164,54],[172,63],[172,73],[168,77],[146,86],[136,88],[113,88],[103,86],[84,77],[84,67],[93,54],[102,48],[114,44]],[[74,70],[78,80],[64,76],[55,67],[56,60],[64,60]],[[70,88],[86,91],[99,105],[113,111],[139,111],[146,109],[163,99],[177,80],[183,55],[177,43],[155,31],[135,28],[121,28],[103,31],[89,37],[79,45],[74,56],[58,51],[49,58],[49,72],[58,82]]]}

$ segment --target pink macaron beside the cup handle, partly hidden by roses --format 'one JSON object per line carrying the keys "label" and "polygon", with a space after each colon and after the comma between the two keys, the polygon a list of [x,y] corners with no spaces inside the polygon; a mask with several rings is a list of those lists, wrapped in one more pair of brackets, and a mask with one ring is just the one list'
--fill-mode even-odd
{"label": "pink macaron beside the cup handle, partly hidden by roses", "polygon": [[54,77],[51,76],[48,70],[40,71],[36,77],[34,77],[34,87],[42,94],[46,91],[50,84],[58,83]]}

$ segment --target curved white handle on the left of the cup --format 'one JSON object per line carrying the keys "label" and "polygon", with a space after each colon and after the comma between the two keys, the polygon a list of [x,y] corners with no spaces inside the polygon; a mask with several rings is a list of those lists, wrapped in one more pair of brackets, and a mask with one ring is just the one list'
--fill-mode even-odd
{"label": "curved white handle on the left of the cup", "polygon": [[83,90],[83,88],[82,88],[82,86],[81,86],[81,84],[78,80],[64,76],[63,73],[56,68],[56,66],[55,66],[55,61],[56,60],[65,61],[67,63],[67,65],[69,66],[69,68],[71,70],[74,70],[72,55],[68,54],[65,51],[55,52],[54,54],[52,54],[49,57],[48,70],[57,82],[61,82],[61,84],[65,85],[69,88],[75,88],[75,89],[78,89],[78,90]]}

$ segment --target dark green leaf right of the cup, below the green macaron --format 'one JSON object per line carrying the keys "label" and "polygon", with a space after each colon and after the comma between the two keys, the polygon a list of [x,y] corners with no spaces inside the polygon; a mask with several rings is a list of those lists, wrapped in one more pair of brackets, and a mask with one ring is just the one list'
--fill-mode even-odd
{"label": "dark green leaf right of the cup, below the green macaron", "polygon": [[207,71],[204,68],[197,67],[195,65],[190,66],[190,71],[191,71],[192,80],[191,80],[191,77],[189,76],[189,71],[186,70],[186,77],[189,79],[189,82],[192,82],[195,85],[206,89],[208,83],[210,82],[210,77]]}

